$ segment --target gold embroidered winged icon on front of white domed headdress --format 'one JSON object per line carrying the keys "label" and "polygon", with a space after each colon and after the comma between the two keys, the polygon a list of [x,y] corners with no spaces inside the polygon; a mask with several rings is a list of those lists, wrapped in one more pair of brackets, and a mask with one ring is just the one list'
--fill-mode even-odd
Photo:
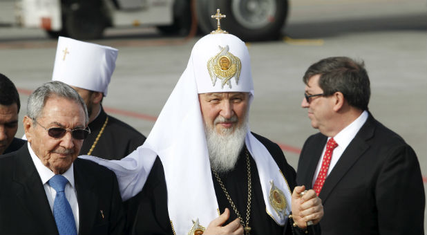
{"label": "gold embroidered winged icon on front of white domed headdress", "polygon": [[231,78],[236,79],[236,84],[238,84],[238,79],[240,76],[240,59],[233,54],[229,53],[229,46],[219,46],[220,53],[216,54],[214,57],[211,57],[207,62],[207,70],[211,76],[212,86],[215,86],[216,79],[221,80],[221,88],[224,88],[225,84],[228,84],[231,88]]}

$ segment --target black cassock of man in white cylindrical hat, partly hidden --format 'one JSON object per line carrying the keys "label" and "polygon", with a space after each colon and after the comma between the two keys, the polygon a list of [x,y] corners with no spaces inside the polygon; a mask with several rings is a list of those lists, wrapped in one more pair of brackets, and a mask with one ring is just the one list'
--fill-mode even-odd
{"label": "black cassock of man in white cylindrical hat, partly hidden", "polygon": [[135,130],[132,126],[107,115],[101,107],[101,112],[97,118],[88,124],[91,129],[91,134],[84,140],[82,149],[80,149],[80,155],[88,154],[107,116],[108,122],[104,131],[99,136],[99,140],[91,156],[97,156],[98,158],[108,160],[120,160],[128,156],[129,153],[133,152],[144,143],[144,135]]}

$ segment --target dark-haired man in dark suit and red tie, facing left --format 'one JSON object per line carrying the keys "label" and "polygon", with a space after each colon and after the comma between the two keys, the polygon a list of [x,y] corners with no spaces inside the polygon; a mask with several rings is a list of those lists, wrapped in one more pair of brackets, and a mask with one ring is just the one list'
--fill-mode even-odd
{"label": "dark-haired man in dark suit and red tie, facing left", "polygon": [[368,112],[363,63],[330,57],[306,71],[305,98],[314,128],[296,182],[313,188],[325,209],[323,234],[424,234],[424,186],[417,156]]}

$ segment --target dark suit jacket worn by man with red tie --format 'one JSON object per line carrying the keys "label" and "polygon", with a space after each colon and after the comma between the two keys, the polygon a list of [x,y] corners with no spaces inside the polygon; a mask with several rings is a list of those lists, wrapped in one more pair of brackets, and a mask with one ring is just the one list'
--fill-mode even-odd
{"label": "dark suit jacket worn by man with red tie", "polygon": [[[312,188],[327,137],[305,141],[296,182]],[[323,234],[424,234],[424,186],[417,156],[371,114],[319,194]]]}

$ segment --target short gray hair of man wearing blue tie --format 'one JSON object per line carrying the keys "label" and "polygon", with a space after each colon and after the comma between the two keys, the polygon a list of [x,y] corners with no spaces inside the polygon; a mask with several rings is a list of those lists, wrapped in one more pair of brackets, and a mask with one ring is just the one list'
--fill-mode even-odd
{"label": "short gray hair of man wearing blue tie", "polygon": [[86,109],[86,104],[84,103],[82,97],[80,97],[79,93],[71,88],[71,86],[68,86],[64,82],[59,81],[46,82],[32,92],[30,97],[28,97],[27,103],[28,117],[32,120],[37,120],[41,114],[41,111],[44,109],[46,101],[54,95],[66,100],[72,100],[77,104],[80,104],[84,110],[84,116],[86,118],[84,124],[88,124],[88,110]]}

